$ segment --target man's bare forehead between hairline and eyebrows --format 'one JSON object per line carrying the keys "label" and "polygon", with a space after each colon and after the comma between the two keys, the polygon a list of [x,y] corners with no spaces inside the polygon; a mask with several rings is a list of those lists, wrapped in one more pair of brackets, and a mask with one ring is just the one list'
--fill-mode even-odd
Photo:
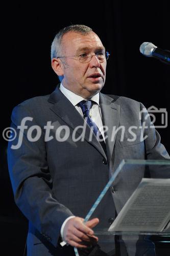
{"label": "man's bare forehead between hairline and eyebrows", "polygon": [[[90,32],[86,35],[83,35],[78,32],[70,31],[63,36],[62,46],[65,48],[74,48],[78,50],[81,48],[95,48],[103,47],[103,44],[98,35],[94,32]],[[104,48],[104,47],[103,47]]]}

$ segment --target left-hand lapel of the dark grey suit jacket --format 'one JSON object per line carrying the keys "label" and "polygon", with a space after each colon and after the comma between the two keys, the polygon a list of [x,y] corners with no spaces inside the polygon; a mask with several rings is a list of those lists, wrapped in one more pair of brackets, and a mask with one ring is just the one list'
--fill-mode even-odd
{"label": "left-hand lapel of the dark grey suit jacket", "polygon": [[[64,96],[64,94],[60,91],[59,87],[50,95],[48,102],[53,103],[51,106],[51,110],[59,116],[72,130],[77,129],[78,126],[86,125],[86,121],[76,110],[75,106],[71,104],[71,102]],[[98,139],[95,137],[93,133],[91,133],[91,129],[88,125],[85,126],[84,139],[92,144],[96,150],[98,150],[102,156],[107,159],[106,154],[103,150]],[[82,129],[77,130],[79,135],[82,134]],[[91,138],[89,140],[89,138]]]}

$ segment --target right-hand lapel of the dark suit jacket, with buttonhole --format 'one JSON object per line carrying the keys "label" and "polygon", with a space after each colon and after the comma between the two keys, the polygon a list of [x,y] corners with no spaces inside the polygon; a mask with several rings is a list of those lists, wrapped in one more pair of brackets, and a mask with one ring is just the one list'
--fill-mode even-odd
{"label": "right-hand lapel of the dark suit jacket, with buttonhole", "polygon": [[[114,103],[114,99],[101,94],[100,93],[100,106],[102,112],[102,120],[103,125],[108,127],[108,131],[106,135],[108,136],[106,139],[106,149],[107,149],[107,157],[110,162],[111,156],[113,154],[113,147],[115,144],[116,135],[114,131],[118,128],[119,118],[120,118],[120,106]],[[114,127],[114,131],[113,131]],[[112,136],[115,135],[115,136]]]}

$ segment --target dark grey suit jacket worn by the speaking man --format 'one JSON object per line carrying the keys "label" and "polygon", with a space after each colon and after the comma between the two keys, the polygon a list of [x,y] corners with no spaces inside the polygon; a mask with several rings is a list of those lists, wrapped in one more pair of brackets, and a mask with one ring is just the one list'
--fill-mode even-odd
{"label": "dark grey suit jacket worn by the speaking man", "polygon": [[[122,159],[169,160],[159,134],[153,127],[150,128],[150,118],[146,117],[147,113],[141,112],[144,108],[141,103],[100,93],[100,105],[103,124],[108,126],[106,152],[95,135],[89,141],[88,126],[84,141],[72,141],[75,128],[84,125],[84,119],[59,87],[51,95],[26,100],[13,110],[14,129],[23,118],[32,118],[26,121],[24,130],[19,132],[16,129],[17,137],[8,146],[8,165],[15,202],[29,220],[28,255],[60,255],[55,253],[60,250],[57,245],[62,223],[71,215],[86,216]],[[44,141],[44,126],[50,121],[54,126],[50,132],[53,139]],[[144,130],[142,136],[148,137],[140,141],[143,121],[149,128]],[[65,136],[64,130],[60,130],[61,125],[69,129],[65,141],[55,138],[56,131],[57,138]],[[115,129],[119,127],[116,134],[112,133],[113,126]],[[125,132],[122,141],[123,126]],[[133,138],[128,130],[130,126],[137,127],[135,141],[128,141],[128,138]],[[30,134],[34,138],[37,131],[41,131],[40,138],[35,142],[29,141]],[[78,129],[76,137],[81,132],[81,128]],[[21,146],[17,150],[12,149],[11,145],[18,143],[19,136],[23,137]],[[142,168],[132,169],[130,175],[119,176],[113,184],[116,193],[108,190],[103,204],[94,214],[101,220],[101,226],[109,227],[108,219],[114,218],[115,208],[117,212],[122,209],[145,174]],[[152,177],[158,175],[169,177],[165,172],[151,174]]]}

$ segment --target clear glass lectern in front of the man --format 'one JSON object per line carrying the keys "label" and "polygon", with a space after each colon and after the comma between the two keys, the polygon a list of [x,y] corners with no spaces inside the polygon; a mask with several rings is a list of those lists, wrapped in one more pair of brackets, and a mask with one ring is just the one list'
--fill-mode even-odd
{"label": "clear glass lectern in front of the man", "polygon": [[[112,222],[116,222],[119,216],[121,216],[120,211],[123,206],[130,205],[129,198],[134,195],[142,178],[145,177],[147,180],[151,179],[156,182],[165,180],[166,185],[161,185],[161,183],[149,184],[148,187],[142,187],[141,191],[144,194],[140,198],[134,200],[137,203],[139,210],[139,215],[141,216],[136,220],[135,216],[127,218],[130,219],[129,222],[123,221],[123,225],[118,225],[117,228],[113,230],[108,230],[108,227],[112,225]],[[98,217],[98,208],[103,207],[107,211],[105,196],[110,193],[115,201],[116,209],[118,209],[118,215],[115,218],[110,218],[109,220],[103,220],[102,226],[97,225],[93,228],[95,236],[99,238],[98,245],[91,246],[87,250],[77,250],[75,248],[75,254],[79,256],[169,256],[170,255],[170,161],[158,161],[158,160],[123,160],[116,168],[114,173],[110,172],[110,180],[106,186],[101,191],[101,194],[96,201],[91,206],[91,209],[86,215],[85,222]],[[160,180],[160,181],[161,181]],[[150,180],[149,180],[150,181]],[[142,183],[143,184],[143,183]],[[95,184],[94,184],[95,185]],[[156,190],[154,190],[156,189]],[[135,193],[134,193],[135,191]],[[145,194],[149,191],[148,194]],[[154,197],[155,191],[157,196]],[[142,193],[142,192],[141,192]],[[165,196],[166,195],[166,196]],[[152,198],[153,197],[153,198]],[[150,201],[148,201],[150,200]],[[161,201],[160,201],[161,200]],[[127,202],[128,201],[128,202]],[[142,202],[139,205],[139,202]],[[143,206],[143,202],[149,203],[151,210],[148,210]],[[158,202],[158,203],[157,203]],[[129,204],[128,204],[129,203]],[[142,207],[142,215],[140,207]],[[155,208],[153,208],[155,207]],[[124,207],[125,208],[125,207]],[[148,216],[152,210],[158,214],[153,217],[153,222],[147,225]],[[160,214],[159,214],[160,211]],[[131,209],[127,212],[131,213]],[[126,217],[123,220],[127,220]],[[154,220],[157,218],[157,221]],[[133,221],[134,219],[134,221]],[[142,219],[142,220],[141,220]],[[144,221],[143,221],[144,220]],[[136,222],[135,222],[136,221]],[[142,222],[143,221],[143,222]],[[140,222],[142,225],[140,225]],[[159,223],[160,222],[160,223]],[[106,225],[105,225],[106,223]],[[108,226],[109,223],[109,226]],[[113,224],[114,224],[113,223]],[[127,224],[127,225],[126,225]],[[125,227],[125,228],[124,228]],[[120,229],[120,230],[119,230]]]}

